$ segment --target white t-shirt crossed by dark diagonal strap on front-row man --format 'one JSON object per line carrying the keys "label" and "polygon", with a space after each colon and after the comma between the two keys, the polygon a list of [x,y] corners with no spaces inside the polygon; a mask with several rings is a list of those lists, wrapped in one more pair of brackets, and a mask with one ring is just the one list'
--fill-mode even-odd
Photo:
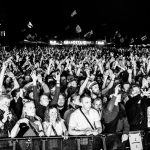
{"label": "white t-shirt crossed by dark diagonal strap on front-row man", "polygon": [[[93,108],[89,110],[89,114],[86,114],[86,117],[88,118],[93,127],[95,127],[95,122],[100,121],[100,116],[98,112]],[[88,123],[80,109],[75,110],[71,114],[69,126],[74,127],[76,130],[85,130],[87,128],[91,128],[90,124]]]}

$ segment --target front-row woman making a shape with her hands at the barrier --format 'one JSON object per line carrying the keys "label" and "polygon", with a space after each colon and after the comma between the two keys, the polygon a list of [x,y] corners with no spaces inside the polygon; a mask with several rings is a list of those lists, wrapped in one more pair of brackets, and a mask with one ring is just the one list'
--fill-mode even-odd
{"label": "front-row woman making a shape with her hands at the barrier", "polygon": [[[11,130],[10,137],[28,137],[28,136],[44,136],[41,119],[36,115],[35,104],[33,101],[24,103],[21,119],[17,121]],[[26,142],[19,141],[21,150],[26,149]],[[33,142],[34,148],[40,149],[37,141]]]}

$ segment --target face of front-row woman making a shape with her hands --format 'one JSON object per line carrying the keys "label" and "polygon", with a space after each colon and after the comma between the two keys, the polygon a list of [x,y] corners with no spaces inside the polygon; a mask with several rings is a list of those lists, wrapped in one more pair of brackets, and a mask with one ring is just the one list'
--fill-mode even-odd
{"label": "face of front-row woman making a shape with her hands", "polygon": [[35,116],[35,105],[32,102],[25,104],[25,113],[28,116]]}

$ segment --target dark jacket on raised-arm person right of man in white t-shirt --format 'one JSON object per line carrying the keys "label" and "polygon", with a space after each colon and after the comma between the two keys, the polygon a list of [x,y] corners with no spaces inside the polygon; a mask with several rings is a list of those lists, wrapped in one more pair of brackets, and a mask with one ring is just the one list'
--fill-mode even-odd
{"label": "dark jacket on raised-arm person right of man in white t-shirt", "polygon": [[116,97],[113,96],[103,109],[104,133],[123,132],[128,134],[130,127],[124,105],[119,103],[115,106],[115,100]]}

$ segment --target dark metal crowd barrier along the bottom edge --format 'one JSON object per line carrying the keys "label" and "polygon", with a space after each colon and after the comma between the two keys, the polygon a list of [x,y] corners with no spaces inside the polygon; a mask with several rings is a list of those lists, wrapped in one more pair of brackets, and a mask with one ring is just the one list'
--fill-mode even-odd
{"label": "dark metal crowd barrier along the bottom edge", "polygon": [[[150,134],[141,131],[143,150],[150,149]],[[53,137],[23,137],[0,138],[0,150],[109,150],[111,141],[117,141],[122,133],[101,134],[97,136],[69,136],[63,139],[60,136]],[[113,149],[130,150],[129,141],[123,147]]]}

